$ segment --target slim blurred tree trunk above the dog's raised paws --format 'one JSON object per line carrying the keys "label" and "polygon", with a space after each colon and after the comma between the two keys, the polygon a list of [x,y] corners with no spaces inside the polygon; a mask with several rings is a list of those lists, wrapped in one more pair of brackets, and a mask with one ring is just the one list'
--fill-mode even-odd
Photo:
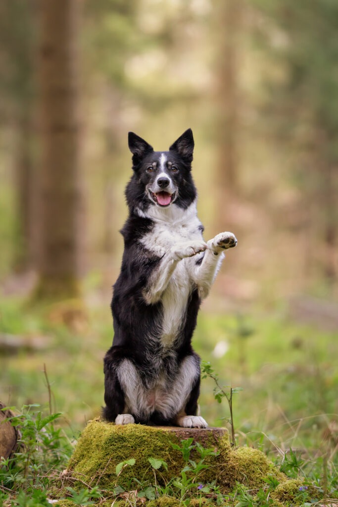
{"label": "slim blurred tree trunk above the dog's raised paws", "polygon": [[238,193],[238,37],[240,0],[219,0],[219,55],[216,61],[216,182],[222,204]]}

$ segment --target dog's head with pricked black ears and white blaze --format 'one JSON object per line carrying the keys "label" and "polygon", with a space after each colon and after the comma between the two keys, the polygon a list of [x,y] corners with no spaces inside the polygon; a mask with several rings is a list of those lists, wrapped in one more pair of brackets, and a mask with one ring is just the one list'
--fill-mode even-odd
{"label": "dog's head with pricked black ears and white blaze", "polygon": [[191,176],[194,137],[186,130],[167,152],[155,152],[144,139],[129,132],[134,174],[126,196],[131,208],[145,211],[149,206],[187,208],[196,198]]}

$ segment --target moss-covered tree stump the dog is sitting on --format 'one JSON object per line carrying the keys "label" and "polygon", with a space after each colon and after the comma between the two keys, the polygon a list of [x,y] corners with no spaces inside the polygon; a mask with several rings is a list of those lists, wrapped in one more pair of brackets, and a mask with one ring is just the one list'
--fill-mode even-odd
{"label": "moss-covered tree stump the dog is sitting on", "polygon": [[[216,456],[205,458],[204,464],[207,467],[201,470],[197,481],[202,484],[215,481],[222,494],[231,493],[238,483],[250,489],[264,487],[270,476],[280,485],[273,492],[275,504],[282,505],[278,491],[283,500],[293,500],[294,494],[290,492],[296,492],[302,484],[302,481],[287,479],[264,453],[247,447],[232,448],[228,430],[224,428],[188,429],[139,424],[119,426],[95,420],[89,422],[83,431],[67,469],[61,474],[61,495],[67,486],[74,489],[81,489],[84,485],[89,488],[97,486],[104,491],[104,496],[110,497],[111,504],[117,486],[127,492],[140,490],[155,482],[164,486],[171,479],[179,478],[187,464],[182,452],[174,449],[172,444],[180,445],[182,440],[191,437],[194,439],[193,444],[198,442],[204,448],[218,451]],[[196,462],[200,459],[196,449],[192,450],[190,457]],[[117,476],[116,466],[131,458],[135,459],[135,464],[126,465]],[[155,472],[148,458],[164,460],[168,469],[161,467]],[[176,500],[170,498],[170,501],[168,505],[176,505]],[[118,507],[119,502],[116,499],[114,505]],[[162,506],[163,502],[162,497],[149,500],[148,505]],[[68,503],[68,500],[59,502],[60,506]]]}

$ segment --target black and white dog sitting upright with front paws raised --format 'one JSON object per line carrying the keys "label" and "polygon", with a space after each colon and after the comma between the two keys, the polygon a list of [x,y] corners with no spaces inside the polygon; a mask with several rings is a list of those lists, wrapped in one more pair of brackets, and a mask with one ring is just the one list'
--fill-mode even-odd
{"label": "black and white dog sitting upright with front paws raised", "polygon": [[196,415],[200,357],[191,340],[223,250],[237,240],[231,232],[207,242],[202,237],[191,129],[167,152],[154,152],[129,132],[129,148],[129,217],[111,302],[115,335],[104,358],[103,417],[116,424],[206,427]]}

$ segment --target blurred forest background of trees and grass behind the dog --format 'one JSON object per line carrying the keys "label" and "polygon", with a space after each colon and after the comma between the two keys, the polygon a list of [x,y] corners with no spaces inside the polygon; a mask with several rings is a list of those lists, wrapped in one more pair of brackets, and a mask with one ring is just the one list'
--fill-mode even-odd
{"label": "blurred forest background of trees and grass behind the dog", "polygon": [[205,237],[238,238],[195,347],[243,387],[245,441],[336,455],[338,4],[5,0],[0,40],[2,402],[99,414],[127,132],[167,150],[191,127]]}

